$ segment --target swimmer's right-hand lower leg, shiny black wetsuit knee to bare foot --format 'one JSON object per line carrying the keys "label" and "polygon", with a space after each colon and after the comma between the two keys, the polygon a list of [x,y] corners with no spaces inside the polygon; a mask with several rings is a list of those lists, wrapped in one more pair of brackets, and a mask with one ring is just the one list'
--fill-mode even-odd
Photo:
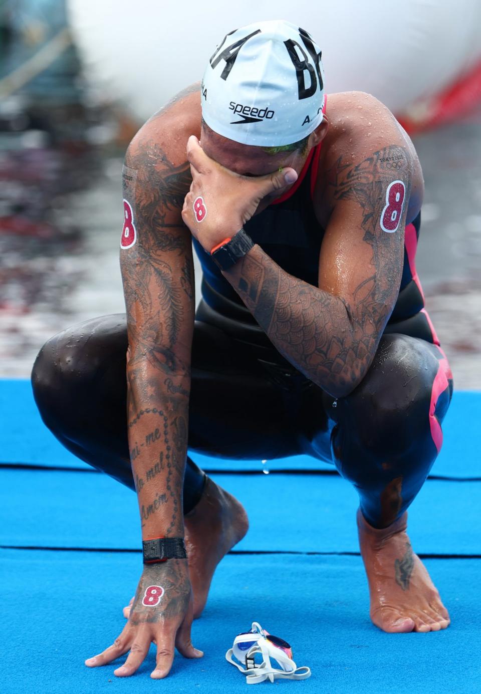
{"label": "swimmer's right-hand lower leg, shiny black wetsuit knee to bare foot", "polygon": [[385,632],[439,631],[449,615],[413,552],[406,509],[437,455],[430,406],[441,423],[449,389],[433,403],[441,369],[436,346],[388,335],[378,352],[362,384],[337,402],[332,450],[337,468],[360,495],[357,527],[371,620]]}

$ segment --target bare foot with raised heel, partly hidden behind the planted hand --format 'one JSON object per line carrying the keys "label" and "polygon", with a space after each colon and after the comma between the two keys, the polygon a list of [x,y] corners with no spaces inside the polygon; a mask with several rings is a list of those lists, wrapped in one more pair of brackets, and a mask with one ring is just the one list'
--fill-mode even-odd
{"label": "bare foot with raised heel, partly hidden behind the planted hand", "polygon": [[[212,576],[222,557],[242,540],[248,530],[244,507],[225,489],[205,481],[199,503],[184,516],[185,547],[194,593],[194,619],[201,616],[207,602]],[[124,607],[128,619],[133,598]]]}

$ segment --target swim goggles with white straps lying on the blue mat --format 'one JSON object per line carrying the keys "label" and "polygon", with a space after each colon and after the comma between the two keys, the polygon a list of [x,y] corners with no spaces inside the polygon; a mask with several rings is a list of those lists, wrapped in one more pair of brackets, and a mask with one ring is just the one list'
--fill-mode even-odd
{"label": "swim goggles with white straps lying on the blue mat", "polygon": [[[260,654],[262,663],[255,662],[257,654]],[[280,668],[274,668],[271,659]],[[235,637],[233,647],[226,653],[226,660],[246,675],[247,684],[258,684],[264,679],[273,682],[275,679],[307,679],[311,676],[310,668],[296,666],[289,643],[266,632],[258,622],[252,623],[250,632],[242,632]]]}

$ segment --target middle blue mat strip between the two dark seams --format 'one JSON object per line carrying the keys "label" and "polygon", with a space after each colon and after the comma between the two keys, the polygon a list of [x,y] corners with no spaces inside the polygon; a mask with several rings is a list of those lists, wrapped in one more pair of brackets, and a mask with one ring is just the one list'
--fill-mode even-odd
{"label": "middle blue mat strip between the two dark seams", "polygon": [[[140,546],[137,498],[110,477],[8,469],[0,475],[2,489],[8,492],[0,505],[0,545]],[[250,518],[251,529],[237,551],[359,551],[357,493],[341,477],[259,473],[212,479],[242,502]],[[409,511],[414,550],[481,555],[480,508],[481,482],[428,480]]]}

